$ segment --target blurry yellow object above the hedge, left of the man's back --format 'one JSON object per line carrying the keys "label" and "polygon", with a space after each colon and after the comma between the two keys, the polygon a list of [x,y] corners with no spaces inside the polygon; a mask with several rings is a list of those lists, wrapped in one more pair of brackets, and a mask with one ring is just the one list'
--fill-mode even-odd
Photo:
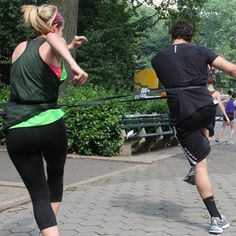
{"label": "blurry yellow object above the hedge, left of the man's back", "polygon": [[153,69],[141,70],[134,74],[134,88],[147,87],[158,88],[159,80]]}

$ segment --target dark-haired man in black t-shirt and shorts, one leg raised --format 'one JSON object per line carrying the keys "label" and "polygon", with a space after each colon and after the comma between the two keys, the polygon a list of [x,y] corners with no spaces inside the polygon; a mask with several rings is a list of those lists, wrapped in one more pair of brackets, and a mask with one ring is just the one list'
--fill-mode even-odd
{"label": "dark-haired man in black t-shirt and shorts, one leg raised", "polygon": [[216,114],[216,104],[206,87],[207,68],[210,65],[236,77],[236,66],[210,49],[191,44],[193,28],[186,21],[174,24],[171,34],[172,45],[155,55],[152,66],[168,91],[170,121],[176,137],[194,166],[198,192],[211,216],[209,233],[223,233],[229,222],[214,201],[206,159],[210,145],[203,135]]}

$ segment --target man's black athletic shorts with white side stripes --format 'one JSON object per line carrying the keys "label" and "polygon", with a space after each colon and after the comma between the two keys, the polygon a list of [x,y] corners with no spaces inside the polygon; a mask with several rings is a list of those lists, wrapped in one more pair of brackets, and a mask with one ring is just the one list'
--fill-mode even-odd
{"label": "man's black athletic shorts with white side stripes", "polygon": [[202,134],[201,129],[207,128],[215,119],[216,106],[207,105],[174,127],[176,137],[190,165],[196,165],[211,151],[208,139]]}

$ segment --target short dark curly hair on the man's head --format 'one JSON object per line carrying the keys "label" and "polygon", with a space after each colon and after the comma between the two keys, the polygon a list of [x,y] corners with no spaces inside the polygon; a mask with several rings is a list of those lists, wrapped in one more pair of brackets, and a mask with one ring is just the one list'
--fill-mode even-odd
{"label": "short dark curly hair on the man's head", "polygon": [[172,40],[183,39],[191,42],[193,37],[193,26],[186,20],[177,21],[171,29]]}

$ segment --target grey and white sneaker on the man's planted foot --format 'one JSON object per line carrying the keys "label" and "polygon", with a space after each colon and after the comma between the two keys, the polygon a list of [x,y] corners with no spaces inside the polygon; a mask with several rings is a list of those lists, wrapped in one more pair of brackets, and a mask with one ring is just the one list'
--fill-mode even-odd
{"label": "grey and white sneaker on the man's planted foot", "polygon": [[208,230],[210,234],[221,234],[224,229],[229,228],[230,224],[227,219],[221,215],[221,219],[219,217],[211,218],[211,226]]}

